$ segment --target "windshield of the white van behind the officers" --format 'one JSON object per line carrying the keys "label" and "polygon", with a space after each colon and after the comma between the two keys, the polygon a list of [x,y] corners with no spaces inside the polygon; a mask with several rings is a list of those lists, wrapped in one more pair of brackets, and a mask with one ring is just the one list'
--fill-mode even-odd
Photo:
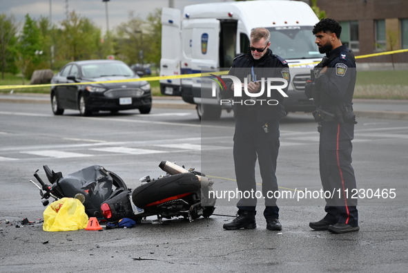
{"label": "windshield of the white van behind the officers", "polygon": [[284,59],[321,58],[311,26],[282,26],[268,28],[271,50]]}

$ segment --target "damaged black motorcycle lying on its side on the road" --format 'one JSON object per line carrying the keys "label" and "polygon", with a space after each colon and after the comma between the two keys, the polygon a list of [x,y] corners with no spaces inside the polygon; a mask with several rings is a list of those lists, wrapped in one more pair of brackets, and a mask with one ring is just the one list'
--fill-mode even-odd
{"label": "damaged black motorcycle lying on its side on the road", "polygon": [[157,216],[160,223],[162,218],[173,217],[184,217],[191,222],[213,214],[215,197],[210,195],[213,190],[211,178],[168,161],[160,162],[159,167],[166,172],[165,175],[155,179],[144,176],[140,179],[142,185],[133,191],[116,173],[99,165],[67,176],[44,165],[51,185],[41,180],[39,170],[34,176],[41,187],[32,180],[30,182],[39,188],[44,206],[48,205],[49,198],[77,198],[84,204],[89,217],[104,218],[108,222],[122,218],[141,222],[148,216]]}

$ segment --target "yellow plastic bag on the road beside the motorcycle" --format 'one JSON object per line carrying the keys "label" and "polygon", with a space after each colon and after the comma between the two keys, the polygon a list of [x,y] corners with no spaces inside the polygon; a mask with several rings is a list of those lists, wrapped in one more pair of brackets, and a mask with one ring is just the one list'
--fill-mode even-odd
{"label": "yellow plastic bag on the road beside the motorcycle", "polygon": [[88,225],[85,207],[76,198],[55,200],[46,208],[43,216],[43,230],[46,232],[66,232],[84,229]]}

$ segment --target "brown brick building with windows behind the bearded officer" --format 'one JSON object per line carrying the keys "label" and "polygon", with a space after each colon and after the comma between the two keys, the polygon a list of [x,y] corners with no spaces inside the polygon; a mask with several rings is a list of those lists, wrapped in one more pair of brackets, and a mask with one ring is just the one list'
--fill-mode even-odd
{"label": "brown brick building with windows behind the bearded officer", "polygon": [[[356,56],[408,49],[408,0],[318,0],[317,6],[340,22],[340,39]],[[359,62],[408,63],[408,53]]]}

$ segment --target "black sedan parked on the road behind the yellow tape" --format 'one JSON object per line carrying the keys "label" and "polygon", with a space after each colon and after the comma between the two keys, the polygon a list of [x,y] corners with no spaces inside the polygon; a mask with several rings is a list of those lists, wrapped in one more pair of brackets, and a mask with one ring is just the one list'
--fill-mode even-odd
{"label": "black sedan parked on the road behind the yellow tape", "polygon": [[121,61],[70,62],[51,79],[51,84],[56,84],[51,87],[52,112],[62,115],[64,109],[75,109],[81,115],[91,115],[96,111],[139,109],[142,114],[150,113],[152,94],[148,82],[97,83],[123,79],[139,76]]}

